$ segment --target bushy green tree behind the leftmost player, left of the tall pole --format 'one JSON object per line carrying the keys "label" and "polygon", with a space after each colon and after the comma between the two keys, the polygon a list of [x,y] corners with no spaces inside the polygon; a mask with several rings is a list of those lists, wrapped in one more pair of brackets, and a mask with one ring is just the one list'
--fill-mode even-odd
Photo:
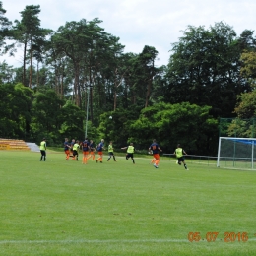
{"label": "bushy green tree behind the leftmost player, left of the tall pole", "polygon": [[56,144],[64,137],[84,137],[85,111],[70,101],[65,103],[54,90],[39,89],[32,103],[33,141],[47,137],[51,144]]}

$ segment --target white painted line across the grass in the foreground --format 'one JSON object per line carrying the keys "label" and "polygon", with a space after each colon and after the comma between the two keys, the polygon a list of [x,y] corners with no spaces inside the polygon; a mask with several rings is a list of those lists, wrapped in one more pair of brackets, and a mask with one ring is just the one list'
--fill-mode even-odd
{"label": "white painted line across the grass in the foreground", "polygon": [[[256,241],[256,238],[249,238],[246,242],[249,241]],[[0,241],[0,244],[45,244],[45,243],[180,243],[180,242],[186,242],[190,243],[188,239],[143,239],[143,240],[87,240],[87,239],[81,239],[81,240],[2,240]],[[201,243],[201,242],[207,242],[206,239],[201,240],[199,242],[191,242],[191,243]],[[215,242],[224,242],[224,240],[217,239]],[[243,241],[233,241],[228,243],[246,243]],[[213,243],[213,242],[212,242]],[[224,242],[226,243],[226,242]]]}

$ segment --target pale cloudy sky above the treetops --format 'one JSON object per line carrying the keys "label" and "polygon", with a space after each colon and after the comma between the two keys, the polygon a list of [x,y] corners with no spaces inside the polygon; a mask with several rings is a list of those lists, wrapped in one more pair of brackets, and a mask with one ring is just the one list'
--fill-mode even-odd
{"label": "pale cloudy sky above the treetops", "polygon": [[[171,44],[178,42],[187,27],[224,22],[240,35],[256,29],[255,0],[0,0],[12,22],[21,20],[27,5],[39,5],[41,28],[57,31],[66,22],[98,18],[105,32],[119,37],[124,52],[140,53],[145,45],[159,52],[156,64],[167,65]],[[254,32],[256,36],[256,32]],[[0,57],[9,65],[21,66],[22,52]]]}

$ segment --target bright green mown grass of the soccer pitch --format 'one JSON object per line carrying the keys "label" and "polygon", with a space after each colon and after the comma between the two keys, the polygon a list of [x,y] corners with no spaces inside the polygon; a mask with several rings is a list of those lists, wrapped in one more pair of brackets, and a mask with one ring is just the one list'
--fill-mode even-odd
{"label": "bright green mown grass of the soccer pitch", "polygon": [[254,171],[39,157],[0,152],[0,255],[256,255]]}

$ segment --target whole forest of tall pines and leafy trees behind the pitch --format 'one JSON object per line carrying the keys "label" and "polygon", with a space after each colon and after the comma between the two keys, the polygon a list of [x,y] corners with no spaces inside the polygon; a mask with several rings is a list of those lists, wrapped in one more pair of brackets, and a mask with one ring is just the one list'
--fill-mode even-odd
{"label": "whole forest of tall pines and leafy trees behind the pitch", "polygon": [[[256,115],[254,31],[188,26],[158,67],[154,46],[124,53],[98,18],[53,31],[41,28],[40,11],[26,6],[10,21],[0,2],[0,54],[23,52],[20,67],[0,62],[1,138],[61,146],[86,136],[137,150],[157,139],[165,153],[180,143],[188,154],[216,156],[220,120]],[[223,132],[232,136],[234,123]]]}

